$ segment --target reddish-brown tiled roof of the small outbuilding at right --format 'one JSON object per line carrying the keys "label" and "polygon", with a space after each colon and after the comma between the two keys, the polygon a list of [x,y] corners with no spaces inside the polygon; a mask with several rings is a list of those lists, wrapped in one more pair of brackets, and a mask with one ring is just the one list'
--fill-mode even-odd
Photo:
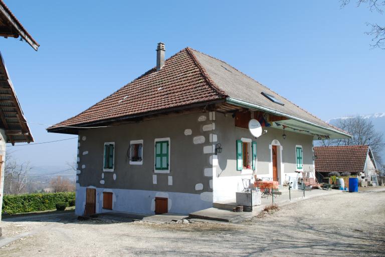
{"label": "reddish-brown tiled roof of the small outbuilding at right", "polygon": [[368,150],[368,145],[314,147],[315,171],[362,172]]}

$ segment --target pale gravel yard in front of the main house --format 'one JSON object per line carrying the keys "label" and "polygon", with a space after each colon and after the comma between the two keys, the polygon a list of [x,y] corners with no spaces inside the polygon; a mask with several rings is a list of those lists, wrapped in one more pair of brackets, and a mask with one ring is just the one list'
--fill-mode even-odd
{"label": "pale gravel yard in front of the main house", "polygon": [[384,256],[385,190],[378,189],[298,201],[237,224],[7,219],[0,256]]}

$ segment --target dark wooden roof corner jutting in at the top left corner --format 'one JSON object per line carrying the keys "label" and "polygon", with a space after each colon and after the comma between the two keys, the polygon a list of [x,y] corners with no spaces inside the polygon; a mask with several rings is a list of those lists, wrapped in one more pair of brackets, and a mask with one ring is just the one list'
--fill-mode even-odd
{"label": "dark wooden roof corner jutting in at the top left corner", "polygon": [[22,23],[16,18],[3,0],[0,0],[0,35],[4,37],[21,36],[35,50],[38,50],[40,44],[28,33]]}

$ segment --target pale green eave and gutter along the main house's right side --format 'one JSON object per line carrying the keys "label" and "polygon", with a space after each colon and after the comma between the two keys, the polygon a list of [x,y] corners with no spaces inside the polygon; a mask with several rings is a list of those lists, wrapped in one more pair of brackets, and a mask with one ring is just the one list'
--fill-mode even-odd
{"label": "pale green eave and gutter along the main house's right side", "polygon": [[316,124],[314,122],[286,114],[281,111],[277,111],[274,109],[266,108],[261,105],[257,105],[254,103],[246,102],[243,100],[239,100],[236,98],[232,97],[227,97],[226,101],[238,105],[241,107],[249,108],[251,110],[262,110],[268,113],[272,113],[275,115],[283,116],[288,119],[285,120],[280,120],[280,121],[275,121],[273,122],[273,127],[275,128],[283,128],[287,130],[292,130],[297,133],[303,133],[307,135],[313,135],[314,140],[319,140],[319,139],[337,139],[337,138],[351,138],[352,136],[349,135],[348,133],[342,132],[338,129],[327,127],[327,126],[322,126],[319,124]]}

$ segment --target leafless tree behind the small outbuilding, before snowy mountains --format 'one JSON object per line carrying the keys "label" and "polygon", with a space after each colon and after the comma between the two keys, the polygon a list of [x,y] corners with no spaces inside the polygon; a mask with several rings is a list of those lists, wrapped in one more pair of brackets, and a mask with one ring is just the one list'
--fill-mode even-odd
{"label": "leafless tree behind the small outbuilding, before snowy mountains", "polygon": [[353,137],[344,139],[322,140],[324,146],[330,145],[370,145],[374,158],[381,163],[380,152],[384,147],[383,134],[374,129],[371,120],[362,116],[339,119],[335,126],[348,132]]}

